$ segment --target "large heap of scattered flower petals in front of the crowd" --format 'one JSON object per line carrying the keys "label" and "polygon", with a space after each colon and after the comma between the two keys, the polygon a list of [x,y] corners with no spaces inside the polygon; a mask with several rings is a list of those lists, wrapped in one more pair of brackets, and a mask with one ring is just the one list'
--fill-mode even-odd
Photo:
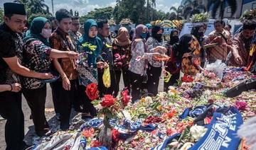
{"label": "large heap of scattered flower petals in front of the crowd", "polygon": [[[185,110],[198,108],[193,112],[196,114],[200,107],[203,109],[214,103],[238,108],[244,120],[256,115],[255,91],[245,91],[235,98],[225,97],[228,88],[251,76],[249,72],[228,68],[220,79],[213,72],[206,71],[197,76],[186,76],[179,86],[169,87],[168,92],[143,97],[136,103],[129,103],[131,97],[127,90],[121,91],[117,98],[105,95],[98,100],[97,85],[92,83],[85,92],[99,110],[99,119],[92,119],[96,120],[94,126],[80,127],[85,147],[104,146],[100,143],[100,132],[102,126],[107,126],[112,142],[110,149],[151,149],[174,134],[181,136],[169,143],[166,149],[188,149],[203,137],[207,128],[195,125],[195,118],[191,116],[181,120]],[[235,78],[239,80],[233,81]],[[216,84],[215,88],[212,88],[213,84]]]}

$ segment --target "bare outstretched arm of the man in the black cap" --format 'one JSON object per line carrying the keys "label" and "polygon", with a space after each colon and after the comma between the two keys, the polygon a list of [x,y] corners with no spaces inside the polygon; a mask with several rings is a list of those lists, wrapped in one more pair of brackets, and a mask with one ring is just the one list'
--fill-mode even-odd
{"label": "bare outstretched arm of the man in the black cap", "polygon": [[52,79],[53,75],[48,73],[38,73],[36,71],[32,71],[26,67],[23,67],[19,62],[18,58],[9,57],[3,58],[6,64],[8,64],[9,68],[14,71],[16,74],[21,76],[31,77],[31,78],[38,78],[38,79]]}

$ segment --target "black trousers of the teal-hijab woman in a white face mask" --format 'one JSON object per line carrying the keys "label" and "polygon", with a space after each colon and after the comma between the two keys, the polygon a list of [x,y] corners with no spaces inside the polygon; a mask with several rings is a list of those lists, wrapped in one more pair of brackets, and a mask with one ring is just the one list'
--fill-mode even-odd
{"label": "black trousers of the teal-hijab woman in a white face mask", "polygon": [[42,88],[23,89],[23,96],[26,98],[28,106],[31,109],[36,134],[43,136],[49,129],[45,115],[46,85]]}

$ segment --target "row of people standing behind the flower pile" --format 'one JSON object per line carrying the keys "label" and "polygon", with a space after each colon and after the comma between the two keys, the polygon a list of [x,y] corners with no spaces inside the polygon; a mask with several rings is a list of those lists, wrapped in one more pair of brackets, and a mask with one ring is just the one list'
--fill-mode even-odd
{"label": "row of people standing behind the flower pile", "polygon": [[[79,17],[60,9],[52,21],[37,17],[28,30],[23,4],[4,4],[4,23],[0,25],[0,115],[6,119],[6,149],[24,149],[24,116],[21,93],[31,109],[36,134],[50,131],[45,116],[46,82],[50,83],[56,117],[60,129],[70,127],[70,112],[82,117],[95,117],[97,110],[90,103],[85,89],[97,83],[100,97],[117,96],[120,79],[136,102],[142,93],[156,96],[161,74],[171,74],[164,82],[164,91],[185,75],[196,75],[207,63],[220,59],[228,65],[255,71],[256,52],[250,51],[256,24],[245,21],[242,30],[230,34],[230,25],[216,20],[215,30],[204,35],[207,25],[195,25],[190,34],[179,38],[172,30],[164,42],[161,25],[137,25],[128,31],[121,27],[116,37],[110,36],[106,20],[88,19],[80,28]],[[255,50],[255,49],[254,49]],[[110,69],[110,87],[102,76]],[[146,89],[146,90],[145,90]]]}

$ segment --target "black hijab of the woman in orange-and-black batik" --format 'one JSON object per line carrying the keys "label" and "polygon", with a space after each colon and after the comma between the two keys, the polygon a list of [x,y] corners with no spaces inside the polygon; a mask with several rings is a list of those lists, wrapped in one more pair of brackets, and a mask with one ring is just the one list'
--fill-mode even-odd
{"label": "black hijab of the woman in orange-and-black batik", "polygon": [[173,45],[172,48],[173,48],[174,54],[178,60],[182,59],[182,56],[184,53],[191,52],[191,50],[189,50],[189,47],[191,46],[191,44],[189,42],[191,42],[192,38],[193,37],[191,34],[182,35],[180,40],[178,40],[178,42],[176,42]]}

